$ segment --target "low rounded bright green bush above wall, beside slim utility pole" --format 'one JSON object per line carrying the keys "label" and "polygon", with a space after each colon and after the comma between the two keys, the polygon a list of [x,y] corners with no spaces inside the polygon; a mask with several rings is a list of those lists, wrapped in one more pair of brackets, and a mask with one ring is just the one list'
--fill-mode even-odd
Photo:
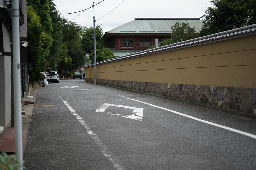
{"label": "low rounded bright green bush above wall, beside slim utility pole", "polygon": [[[96,49],[96,63],[110,58],[114,58],[114,54],[110,48]],[[90,54],[89,59],[91,63],[94,63],[94,54]]]}

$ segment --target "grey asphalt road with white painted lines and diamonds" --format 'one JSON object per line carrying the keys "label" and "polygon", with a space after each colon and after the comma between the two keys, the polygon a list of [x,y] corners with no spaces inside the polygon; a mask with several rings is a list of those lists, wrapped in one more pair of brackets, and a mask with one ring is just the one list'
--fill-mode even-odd
{"label": "grey asphalt road with white painted lines and diamonds", "polygon": [[37,91],[23,160],[37,170],[256,169],[256,120],[61,80]]}

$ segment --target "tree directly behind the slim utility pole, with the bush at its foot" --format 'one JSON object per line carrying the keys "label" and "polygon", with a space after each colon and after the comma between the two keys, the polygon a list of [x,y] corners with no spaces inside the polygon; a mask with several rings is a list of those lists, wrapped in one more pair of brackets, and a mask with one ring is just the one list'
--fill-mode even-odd
{"label": "tree directly behind the slim utility pole, with the bush at its foot", "polygon": [[[93,37],[93,27],[83,27],[81,36],[82,49],[86,52],[90,62],[94,63],[94,39],[91,38]],[[96,62],[114,58],[113,52],[109,48],[104,48],[104,38],[102,36],[103,29],[100,27],[100,25],[96,25]]]}

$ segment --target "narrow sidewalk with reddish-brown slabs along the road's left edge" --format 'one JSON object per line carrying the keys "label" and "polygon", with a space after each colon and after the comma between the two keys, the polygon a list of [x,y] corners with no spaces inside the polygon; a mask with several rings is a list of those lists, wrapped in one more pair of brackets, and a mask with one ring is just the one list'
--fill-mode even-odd
{"label": "narrow sidewalk with reddish-brown slabs along the road's left edge", "polygon": [[[28,99],[33,99],[31,101],[34,101],[39,87],[40,86],[37,85],[36,87],[32,88],[24,98],[28,97]],[[27,137],[27,132],[30,125],[30,121],[31,121],[31,116],[34,109],[34,102],[31,102],[31,101],[21,103],[23,149],[24,149],[25,140]],[[26,104],[26,103],[33,103],[33,104]],[[0,151],[15,153],[15,128],[12,128],[10,126],[11,126],[11,123],[9,123],[7,127],[5,127],[0,134]]]}

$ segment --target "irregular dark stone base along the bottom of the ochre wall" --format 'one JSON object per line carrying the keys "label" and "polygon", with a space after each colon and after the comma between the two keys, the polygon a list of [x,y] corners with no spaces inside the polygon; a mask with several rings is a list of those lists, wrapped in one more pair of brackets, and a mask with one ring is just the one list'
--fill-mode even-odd
{"label": "irregular dark stone base along the bottom of the ochre wall", "polygon": [[[86,78],[86,81],[89,82],[89,78]],[[91,82],[94,82],[94,79],[91,79]],[[97,83],[256,114],[255,88],[102,79],[98,79]]]}

